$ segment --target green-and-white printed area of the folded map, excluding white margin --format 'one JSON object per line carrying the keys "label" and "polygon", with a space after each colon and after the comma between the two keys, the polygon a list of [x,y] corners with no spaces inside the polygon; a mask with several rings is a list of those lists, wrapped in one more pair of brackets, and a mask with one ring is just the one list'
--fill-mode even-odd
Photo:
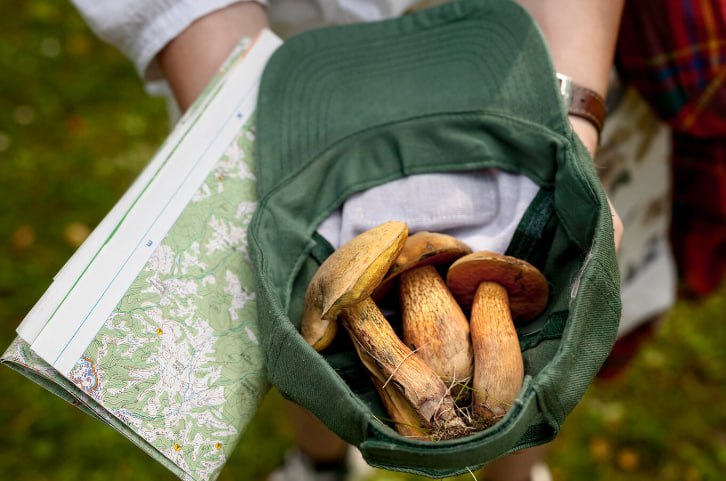
{"label": "green-and-white printed area of the folded map, excluding white margin", "polygon": [[267,391],[247,226],[254,120],[236,135],[66,377],[17,338],[3,362],[182,479],[215,479]]}

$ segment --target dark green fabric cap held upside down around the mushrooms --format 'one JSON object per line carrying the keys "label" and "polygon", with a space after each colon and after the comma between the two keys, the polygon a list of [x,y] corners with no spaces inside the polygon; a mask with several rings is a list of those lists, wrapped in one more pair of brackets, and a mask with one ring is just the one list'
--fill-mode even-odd
{"label": "dark green fabric cap held upside down around the mushrooms", "polygon": [[[528,14],[460,1],[306,32],[273,55],[259,95],[249,247],[269,381],[386,469],[452,476],[554,438],[615,340],[619,274],[605,195]],[[481,168],[539,186],[507,254],[542,270],[549,304],[518,328],[525,380],[503,419],[459,439],[407,439],[382,421],[350,342],[318,353],[299,334],[307,284],[332,252],[316,229],[363,189]]]}

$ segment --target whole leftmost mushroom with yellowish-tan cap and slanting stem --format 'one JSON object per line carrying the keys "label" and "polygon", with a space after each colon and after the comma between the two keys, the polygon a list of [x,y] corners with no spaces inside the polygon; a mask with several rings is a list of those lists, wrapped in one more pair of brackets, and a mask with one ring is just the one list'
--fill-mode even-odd
{"label": "whole leftmost mushroom with yellowish-tan cap and slanting stem", "polygon": [[443,381],[398,338],[370,298],[407,234],[405,223],[386,222],[333,252],[308,285],[301,331],[320,351],[330,344],[340,318],[364,363],[372,362],[375,373],[399,389],[433,430],[453,431],[463,421]]}

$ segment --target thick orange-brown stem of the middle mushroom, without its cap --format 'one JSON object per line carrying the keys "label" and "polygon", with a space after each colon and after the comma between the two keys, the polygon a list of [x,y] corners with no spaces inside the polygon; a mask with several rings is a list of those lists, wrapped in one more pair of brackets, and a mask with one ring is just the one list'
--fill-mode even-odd
{"label": "thick orange-brown stem of the middle mushroom, without its cap", "polygon": [[403,341],[416,350],[454,395],[471,378],[469,321],[435,267],[401,274]]}

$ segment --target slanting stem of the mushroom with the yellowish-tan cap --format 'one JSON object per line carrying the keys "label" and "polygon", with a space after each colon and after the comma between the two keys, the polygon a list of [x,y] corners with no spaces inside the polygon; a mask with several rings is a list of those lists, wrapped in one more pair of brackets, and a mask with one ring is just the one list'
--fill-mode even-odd
{"label": "slanting stem of the mushroom with the yellowish-tan cap", "polygon": [[359,353],[375,363],[374,374],[385,378],[384,386],[397,387],[428,425],[436,430],[463,426],[444,382],[396,336],[372,299],[343,309],[341,318]]}

